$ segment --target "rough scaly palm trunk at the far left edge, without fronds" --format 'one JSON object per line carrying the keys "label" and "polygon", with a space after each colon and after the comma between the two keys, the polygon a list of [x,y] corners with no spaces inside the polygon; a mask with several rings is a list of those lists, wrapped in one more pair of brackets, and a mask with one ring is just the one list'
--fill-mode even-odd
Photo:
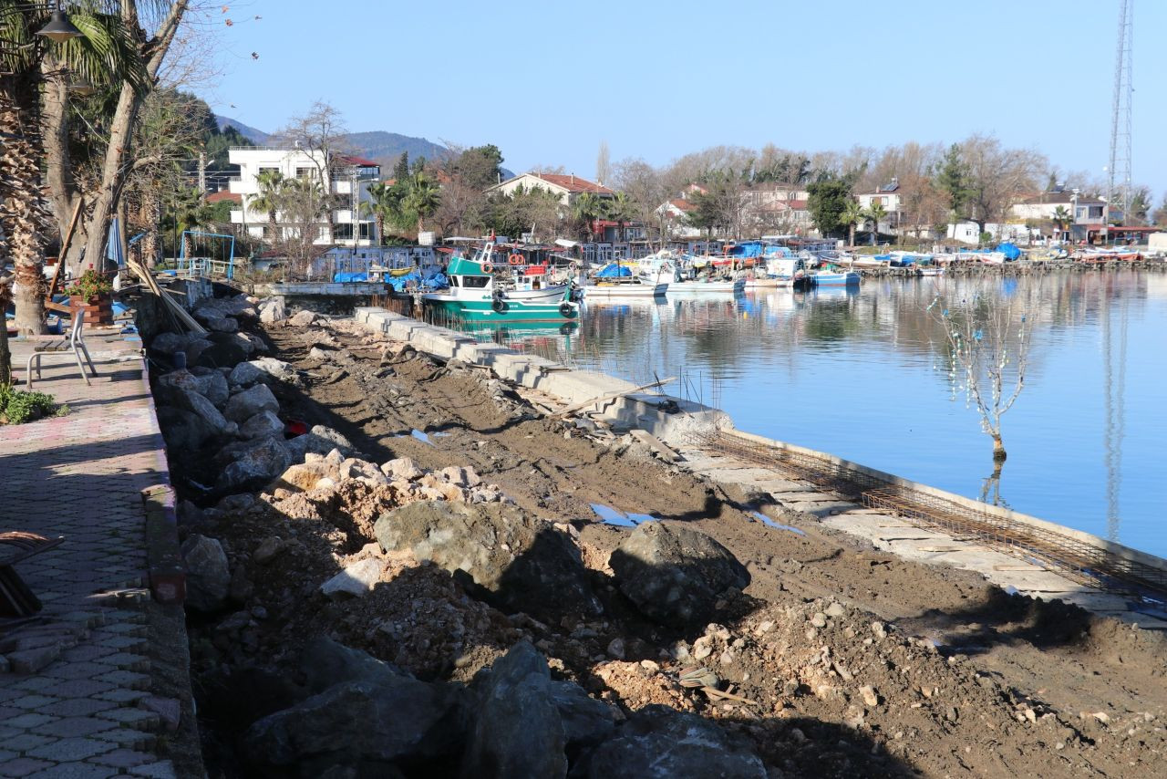
{"label": "rough scaly palm trunk at the far left edge, without fronds", "polygon": [[[11,83],[11,82],[9,82]],[[44,231],[50,223],[41,189],[39,99],[29,83],[0,92],[0,224],[15,267],[16,329],[44,327]],[[7,327],[7,326],[6,326]]]}

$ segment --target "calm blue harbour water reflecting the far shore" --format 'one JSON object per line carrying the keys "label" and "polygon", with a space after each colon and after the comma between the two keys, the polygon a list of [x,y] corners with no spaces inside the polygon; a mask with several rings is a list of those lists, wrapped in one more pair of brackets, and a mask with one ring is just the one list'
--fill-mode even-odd
{"label": "calm blue harbour water reflecting the far shore", "polygon": [[991,439],[953,387],[928,313],[935,279],[857,292],[586,305],[578,328],[483,334],[729,412],[738,427],[993,500],[1167,556],[1167,274],[946,280],[950,294],[1020,301],[1026,384]]}

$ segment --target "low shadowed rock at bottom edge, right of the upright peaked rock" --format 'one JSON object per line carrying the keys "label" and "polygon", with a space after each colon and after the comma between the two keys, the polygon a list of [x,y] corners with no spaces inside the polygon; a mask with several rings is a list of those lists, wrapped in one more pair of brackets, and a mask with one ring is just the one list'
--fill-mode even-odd
{"label": "low shadowed rock at bottom edge, right of the upright peaked rock", "polygon": [[742,739],[708,719],[662,705],[641,709],[620,733],[587,753],[572,779],[766,779]]}

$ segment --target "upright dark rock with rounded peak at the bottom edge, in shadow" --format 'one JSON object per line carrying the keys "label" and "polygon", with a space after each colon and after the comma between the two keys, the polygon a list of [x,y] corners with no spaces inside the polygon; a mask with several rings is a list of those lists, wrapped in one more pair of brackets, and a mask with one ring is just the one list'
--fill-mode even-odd
{"label": "upright dark rock with rounded peak at the bottom edge, in shadow", "polygon": [[462,777],[566,777],[567,739],[547,661],[519,641],[490,668],[462,759]]}

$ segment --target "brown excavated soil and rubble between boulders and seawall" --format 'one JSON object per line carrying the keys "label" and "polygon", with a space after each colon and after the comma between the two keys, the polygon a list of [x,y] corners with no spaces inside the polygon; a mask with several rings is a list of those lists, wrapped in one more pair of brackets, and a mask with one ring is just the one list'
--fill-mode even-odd
{"label": "brown excavated soil and rubble between boulders and seawall", "polygon": [[[379,554],[365,545],[371,522],[408,498],[348,484],[320,500],[263,495],[212,520],[232,564],[243,563],[232,598],[244,610],[224,620],[235,620],[229,627],[193,626],[211,731],[280,708],[299,648],[321,633],[419,677],[457,681],[525,637],[553,674],[628,711],[663,703],[745,733],[771,775],[1161,772],[1160,635],[864,548],[781,507],[766,510],[805,535],[767,527],[740,496],[638,443],[551,420],[529,402],[538,398],[487,371],[442,366],[341,322],[270,326],[267,336],[277,356],[305,371],[301,387],[273,388],[281,416],[334,427],[375,462],[470,466],[522,508],[569,523],[605,617],[565,613],[543,624],[506,615],[407,556],[389,559],[387,586],[326,600],[320,583]],[[727,547],[752,583],[704,630],[652,625],[616,591],[607,566],[630,530],[598,522],[591,503],[687,523]],[[272,537],[281,551],[256,562]],[[693,667],[712,673],[705,681],[715,691],[680,683]],[[238,701],[240,690],[252,698],[246,712],[216,705]],[[230,759],[221,763],[231,773]]]}

